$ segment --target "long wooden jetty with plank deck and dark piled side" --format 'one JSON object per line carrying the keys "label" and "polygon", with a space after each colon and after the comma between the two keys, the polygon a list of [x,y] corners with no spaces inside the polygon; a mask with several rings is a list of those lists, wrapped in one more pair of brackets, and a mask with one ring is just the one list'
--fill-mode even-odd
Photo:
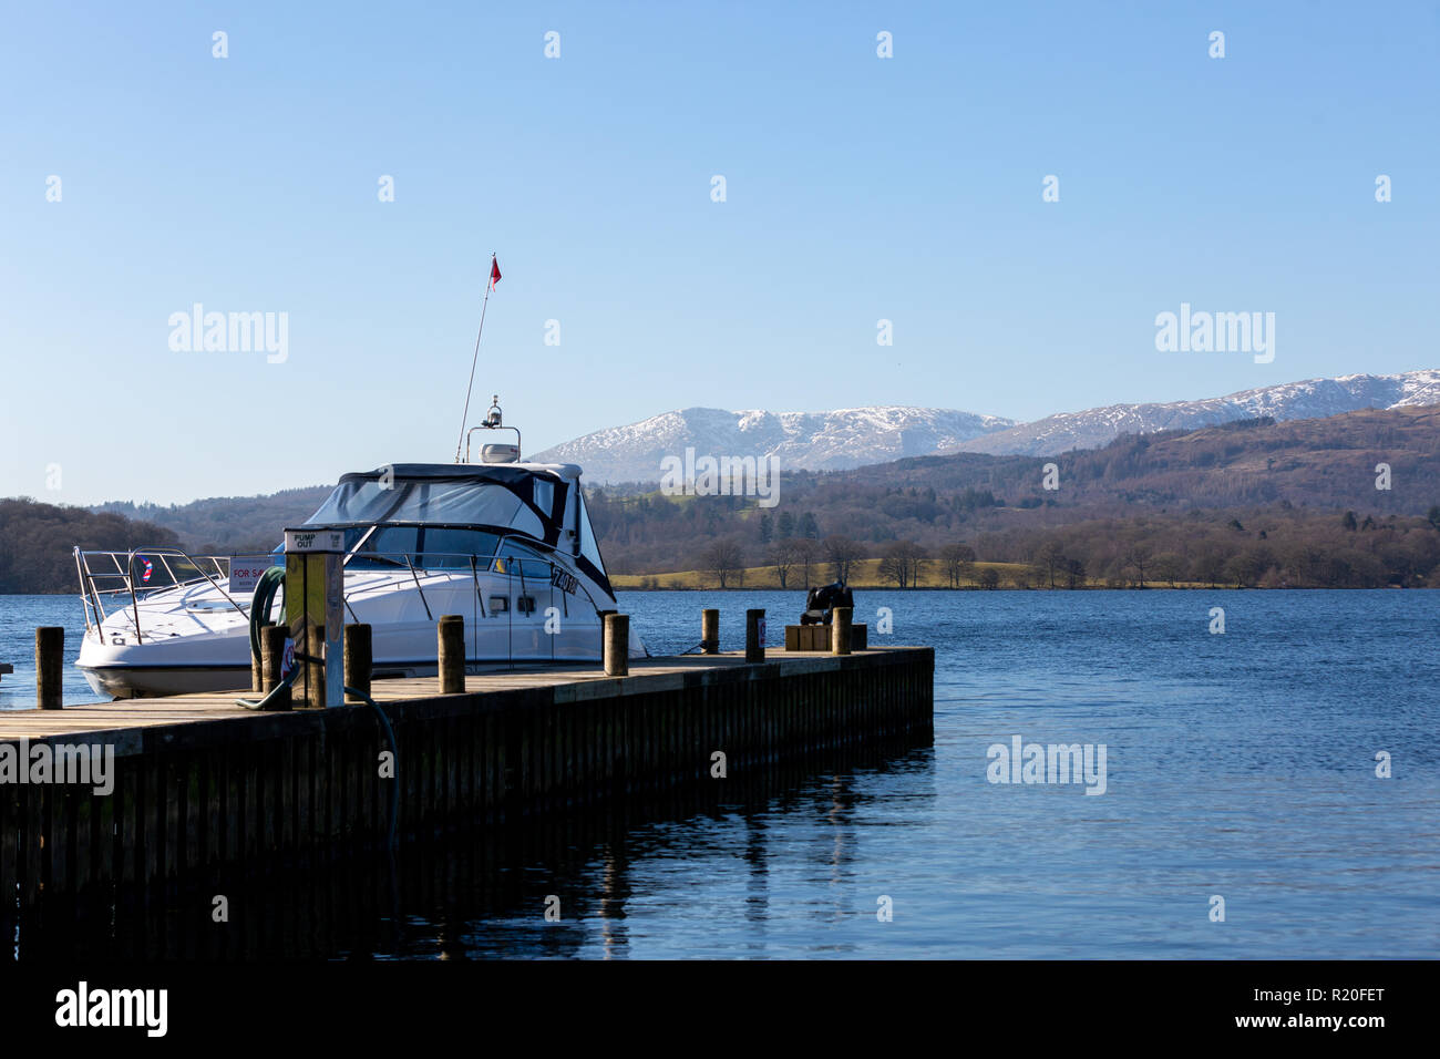
{"label": "long wooden jetty with plank deck and dark piled side", "polygon": [[[112,791],[0,782],[0,929],[52,898],[168,889],[264,862],[305,866],[422,839],[723,784],[847,745],[932,732],[927,647],[824,656],[770,650],[377,680],[367,705],[256,713],[248,692],[0,712],[0,752],[108,746]],[[14,935],[10,935],[14,937]]]}

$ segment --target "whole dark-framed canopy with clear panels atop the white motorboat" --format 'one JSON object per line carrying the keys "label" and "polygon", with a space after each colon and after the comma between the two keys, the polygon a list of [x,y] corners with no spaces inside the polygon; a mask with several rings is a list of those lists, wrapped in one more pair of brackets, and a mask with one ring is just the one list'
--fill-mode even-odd
{"label": "whole dark-framed canopy with clear panels atop the white motorboat", "polygon": [[346,474],[305,524],[494,526],[557,545],[570,483],[514,465],[396,464]]}

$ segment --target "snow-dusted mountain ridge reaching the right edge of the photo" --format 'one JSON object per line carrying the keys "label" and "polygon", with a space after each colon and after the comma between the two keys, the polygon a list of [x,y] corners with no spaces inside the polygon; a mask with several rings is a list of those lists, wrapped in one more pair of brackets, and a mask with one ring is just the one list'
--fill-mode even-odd
{"label": "snow-dusted mountain ridge reaching the right edge of the photo", "polygon": [[1099,448],[1120,434],[1195,429],[1234,419],[1267,415],[1282,419],[1319,419],[1362,408],[1440,405],[1440,370],[1401,375],[1344,375],[1306,379],[1279,386],[1241,390],[1205,401],[1164,405],[1110,405],[1084,412],[1060,412],[1005,431],[971,438],[950,451],[995,455],[1056,455],[1071,448]]}

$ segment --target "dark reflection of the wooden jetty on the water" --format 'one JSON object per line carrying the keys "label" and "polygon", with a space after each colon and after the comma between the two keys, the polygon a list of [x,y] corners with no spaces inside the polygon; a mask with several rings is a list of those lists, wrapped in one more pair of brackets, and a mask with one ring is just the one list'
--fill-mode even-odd
{"label": "dark reflection of the wooden jetty on the water", "polygon": [[[930,767],[926,741],[816,755],[649,801],[616,801],[566,816],[412,843],[395,857],[215,870],[184,886],[52,899],[20,924],[19,957],[43,960],[245,960],[631,955],[632,902],[674,912],[690,886],[726,886],[717,856],[744,872],[744,937],[734,951],[770,951],[770,828],[808,817],[828,831],[825,870],[835,893],[827,918],[842,916],[840,890],[854,846],[857,778],[876,782]],[[737,854],[737,856],[736,856]],[[636,893],[634,867],[665,866]],[[684,888],[684,889],[677,889]],[[228,919],[215,922],[215,898]],[[547,919],[547,903],[559,918]],[[713,924],[711,929],[721,929]],[[678,955],[684,955],[680,941]]]}

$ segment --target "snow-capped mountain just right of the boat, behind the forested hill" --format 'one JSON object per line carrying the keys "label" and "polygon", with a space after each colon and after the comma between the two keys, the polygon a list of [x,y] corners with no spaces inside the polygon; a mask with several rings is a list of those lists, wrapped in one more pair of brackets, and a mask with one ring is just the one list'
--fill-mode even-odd
{"label": "snow-capped mountain just right of the boat, behind the forested hill", "polygon": [[1014,419],[945,408],[838,408],[832,412],[727,412],[685,408],[586,434],[543,452],[537,463],[575,463],[593,483],[660,481],[665,457],[768,457],[782,471],[841,470],[953,450]]}

